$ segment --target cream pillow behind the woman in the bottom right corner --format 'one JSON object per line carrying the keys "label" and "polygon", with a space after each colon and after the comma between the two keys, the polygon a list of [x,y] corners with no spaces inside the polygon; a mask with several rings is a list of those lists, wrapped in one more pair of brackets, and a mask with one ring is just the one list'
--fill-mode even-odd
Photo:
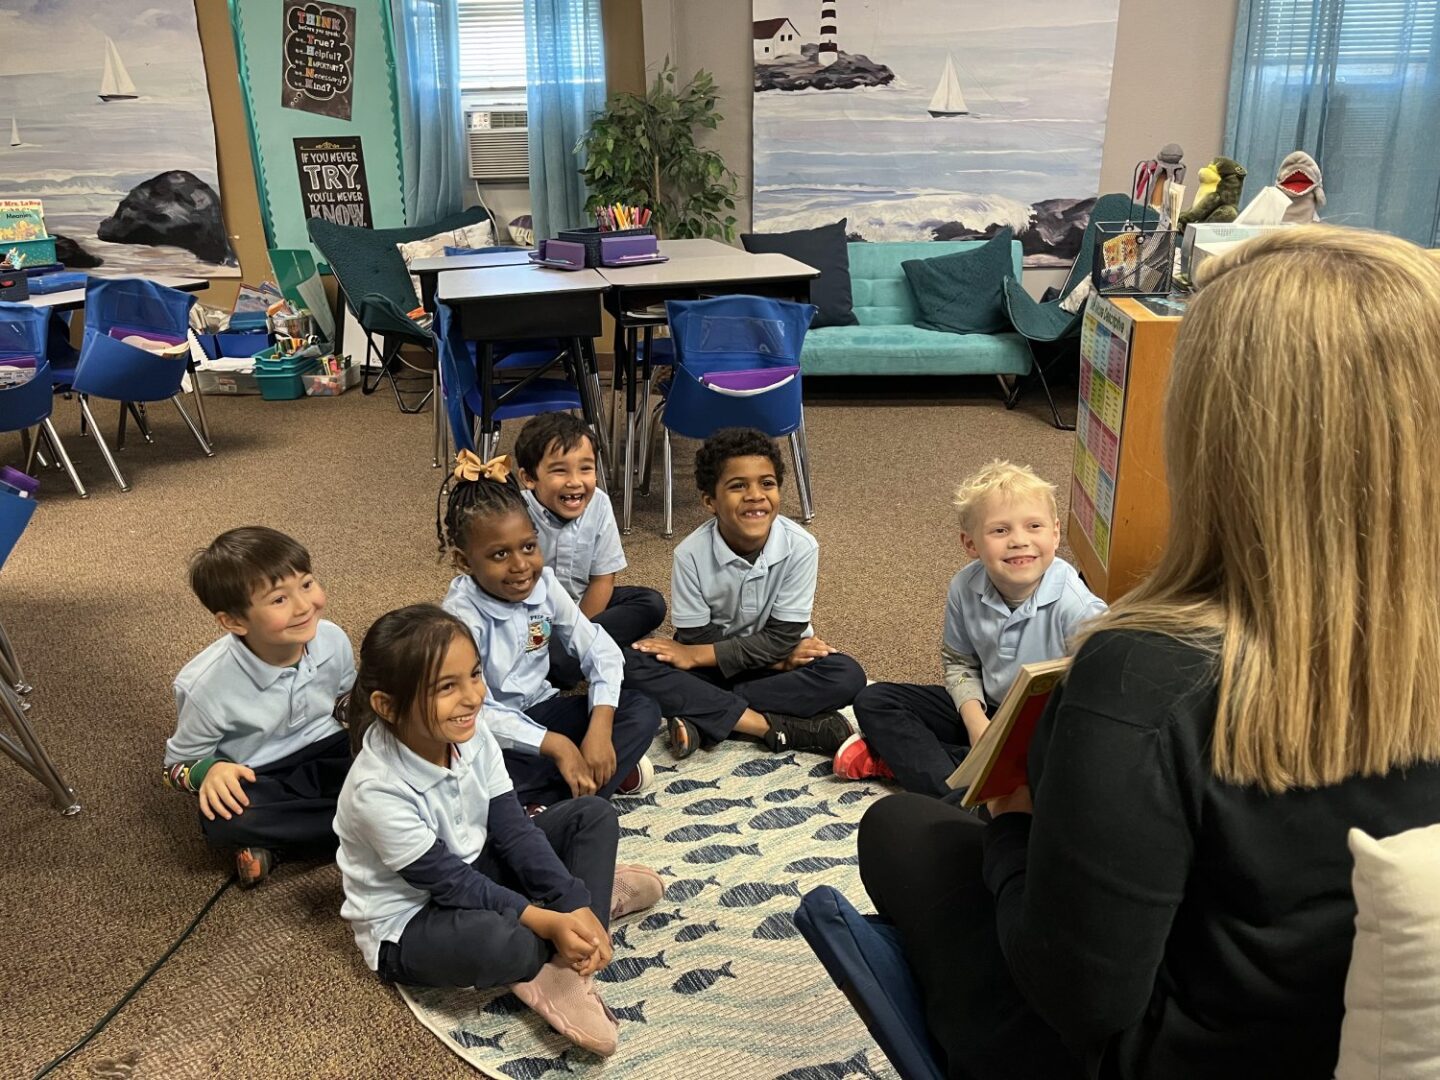
{"label": "cream pillow behind the woman in the bottom right corner", "polygon": [[1349,831],[1355,950],[1338,1080],[1440,1077],[1440,825]]}

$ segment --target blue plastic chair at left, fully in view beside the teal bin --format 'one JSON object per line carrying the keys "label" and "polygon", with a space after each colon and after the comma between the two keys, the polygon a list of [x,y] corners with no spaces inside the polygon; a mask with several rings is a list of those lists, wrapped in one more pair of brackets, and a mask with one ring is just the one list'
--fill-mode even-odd
{"label": "blue plastic chair at left, fully in view beside the teal bin", "polygon": [[95,415],[89,408],[92,396],[120,402],[117,442],[121,448],[125,445],[125,419],[130,415],[135,418],[145,441],[151,442],[144,412],[132,406],[163,402],[168,397],[190,428],[194,441],[200,444],[204,456],[215,456],[210,444],[180,400],[180,383],[189,369],[189,357],[163,357],[121,341],[130,334],[140,334],[174,344],[189,343],[193,305],[194,297],[189,292],[138,278],[108,281],[89,278],[85,285],[85,338],[81,343],[81,359],[75,366],[71,387],[79,395],[81,413],[121,491],[130,491],[130,484],[95,423]]}

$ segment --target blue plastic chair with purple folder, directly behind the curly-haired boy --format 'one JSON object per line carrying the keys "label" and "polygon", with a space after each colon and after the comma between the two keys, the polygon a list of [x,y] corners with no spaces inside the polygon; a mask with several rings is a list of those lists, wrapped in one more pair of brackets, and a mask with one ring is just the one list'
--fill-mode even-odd
{"label": "blue plastic chair with purple folder, directly behind the curly-haired boy", "polygon": [[801,348],[814,304],[766,297],[665,302],[674,372],[661,415],[665,462],[665,536],[674,534],[671,432],[706,439],[721,428],[757,428],[789,436],[801,520],[815,517],[801,395]]}

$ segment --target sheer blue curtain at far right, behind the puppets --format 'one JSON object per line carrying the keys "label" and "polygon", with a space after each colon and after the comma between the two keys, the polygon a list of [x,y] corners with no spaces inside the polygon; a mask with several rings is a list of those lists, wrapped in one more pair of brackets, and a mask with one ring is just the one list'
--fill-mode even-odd
{"label": "sheer blue curtain at far right, behind the puppets", "polygon": [[1240,0],[1225,154],[1246,202],[1293,150],[1320,166],[1320,217],[1440,243],[1440,3]]}

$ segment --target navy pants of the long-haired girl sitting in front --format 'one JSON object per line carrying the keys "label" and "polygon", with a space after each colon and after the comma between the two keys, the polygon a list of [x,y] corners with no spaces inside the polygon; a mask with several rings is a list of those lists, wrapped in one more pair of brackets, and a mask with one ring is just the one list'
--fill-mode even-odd
{"label": "navy pants of the long-haired girl sitting in front", "polygon": [[[569,698],[567,698],[569,700]],[[600,926],[611,922],[619,818],[603,799],[588,795],[534,818],[564,868],[590,891]],[[518,876],[485,844],[471,865],[497,884],[526,894]],[[380,945],[380,978],[409,986],[508,986],[533,979],[554,948],[520,924],[517,914],[425,904],[400,932]]]}

